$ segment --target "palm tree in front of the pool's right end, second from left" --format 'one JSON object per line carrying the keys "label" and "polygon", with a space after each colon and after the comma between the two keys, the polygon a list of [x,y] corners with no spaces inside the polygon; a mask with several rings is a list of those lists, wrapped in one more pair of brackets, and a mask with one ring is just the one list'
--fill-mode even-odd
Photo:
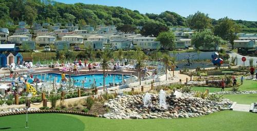
{"label": "palm tree in front of the pool's right end, second from left", "polygon": [[140,50],[140,48],[137,48],[136,53],[134,55],[134,58],[137,60],[137,71],[139,74],[139,84],[141,85],[141,68],[144,67],[144,60],[146,59],[146,55],[144,54],[143,51]]}

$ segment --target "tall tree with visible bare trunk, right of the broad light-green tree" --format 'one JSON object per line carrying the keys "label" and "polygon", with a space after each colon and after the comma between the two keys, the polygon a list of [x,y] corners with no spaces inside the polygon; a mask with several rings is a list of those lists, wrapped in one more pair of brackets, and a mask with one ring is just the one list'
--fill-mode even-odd
{"label": "tall tree with visible bare trunk, right of the broad light-green tree", "polygon": [[236,33],[240,32],[240,30],[240,26],[228,17],[219,19],[214,26],[214,34],[223,40],[229,41],[232,49],[234,49],[234,40],[237,39]]}

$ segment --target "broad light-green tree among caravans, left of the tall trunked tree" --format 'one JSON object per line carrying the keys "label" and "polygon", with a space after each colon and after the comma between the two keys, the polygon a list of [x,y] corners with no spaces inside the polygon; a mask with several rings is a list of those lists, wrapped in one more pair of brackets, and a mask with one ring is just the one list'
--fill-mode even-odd
{"label": "broad light-green tree among caravans, left of the tall trunked tree", "polygon": [[191,42],[197,50],[199,50],[199,47],[208,49],[214,48],[214,50],[216,50],[219,44],[224,43],[224,41],[218,36],[215,36],[211,30],[203,30],[194,33]]}

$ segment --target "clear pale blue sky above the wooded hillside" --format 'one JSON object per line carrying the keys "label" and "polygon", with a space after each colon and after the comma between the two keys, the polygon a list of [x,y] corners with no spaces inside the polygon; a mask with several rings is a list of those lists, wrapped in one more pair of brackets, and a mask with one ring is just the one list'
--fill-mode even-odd
{"label": "clear pale blue sky above the wooded hillside", "polygon": [[120,6],[140,13],[176,12],[184,17],[197,11],[216,20],[225,16],[233,20],[257,21],[257,0],[56,0],[66,4],[85,3]]}

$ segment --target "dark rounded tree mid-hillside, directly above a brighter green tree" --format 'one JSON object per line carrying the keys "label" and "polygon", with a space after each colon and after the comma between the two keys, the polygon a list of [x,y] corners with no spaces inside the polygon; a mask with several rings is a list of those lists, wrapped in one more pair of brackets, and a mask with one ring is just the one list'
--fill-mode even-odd
{"label": "dark rounded tree mid-hillside, directly above a brighter green tree", "polygon": [[168,31],[169,28],[162,24],[162,23],[159,23],[159,22],[148,22],[146,23],[142,30],[141,30],[141,34],[144,35],[144,36],[158,36],[160,32],[165,32],[165,31]]}

